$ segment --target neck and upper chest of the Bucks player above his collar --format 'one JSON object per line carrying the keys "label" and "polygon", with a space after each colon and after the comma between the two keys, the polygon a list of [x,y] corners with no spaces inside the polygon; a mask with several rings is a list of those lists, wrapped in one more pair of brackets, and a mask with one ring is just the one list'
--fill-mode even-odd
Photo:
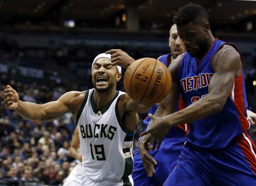
{"label": "neck and upper chest of the Bucks player above his collar", "polygon": [[105,92],[98,92],[94,90],[94,103],[96,110],[102,110],[115,96],[115,88],[111,88]]}

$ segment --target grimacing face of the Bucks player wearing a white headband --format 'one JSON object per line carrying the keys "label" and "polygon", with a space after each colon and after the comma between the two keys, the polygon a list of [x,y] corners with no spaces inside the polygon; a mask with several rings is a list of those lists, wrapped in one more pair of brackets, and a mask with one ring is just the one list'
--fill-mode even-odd
{"label": "grimacing face of the Bucks player wearing a white headband", "polygon": [[122,74],[111,65],[111,60],[106,57],[97,59],[92,68],[92,84],[99,92],[110,90],[121,79]]}

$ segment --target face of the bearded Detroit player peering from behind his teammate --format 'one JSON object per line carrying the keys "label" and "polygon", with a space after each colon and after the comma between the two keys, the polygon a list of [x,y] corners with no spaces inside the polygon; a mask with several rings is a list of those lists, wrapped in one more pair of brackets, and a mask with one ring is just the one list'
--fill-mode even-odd
{"label": "face of the bearded Detroit player peering from behind his teammate", "polygon": [[172,25],[170,29],[169,46],[171,48],[171,57],[173,59],[176,59],[176,57],[186,52],[181,38],[178,35],[176,24]]}

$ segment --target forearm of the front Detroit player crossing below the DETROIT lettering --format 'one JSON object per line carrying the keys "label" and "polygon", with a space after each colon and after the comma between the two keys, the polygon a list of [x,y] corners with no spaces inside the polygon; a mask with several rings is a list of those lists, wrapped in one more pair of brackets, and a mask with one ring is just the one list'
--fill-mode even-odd
{"label": "forearm of the front Detroit player crossing below the DETROIT lettering", "polygon": [[206,95],[185,109],[166,115],[164,122],[172,127],[179,124],[191,123],[220,112],[223,104],[212,97],[211,95]]}

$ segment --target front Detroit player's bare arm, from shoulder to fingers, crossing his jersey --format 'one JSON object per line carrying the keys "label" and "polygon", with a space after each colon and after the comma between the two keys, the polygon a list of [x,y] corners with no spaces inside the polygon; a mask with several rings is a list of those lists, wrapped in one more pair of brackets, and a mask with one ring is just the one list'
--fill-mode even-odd
{"label": "front Detroit player's bare arm, from shoulder to fingers, crossing his jersey", "polygon": [[168,130],[171,126],[191,123],[222,110],[233,88],[235,76],[241,74],[240,55],[235,48],[224,45],[213,57],[211,67],[214,75],[209,84],[209,94],[185,109],[163,118],[150,116],[154,122],[153,126],[141,133],[142,136],[151,134],[145,143],[148,143],[151,138],[161,139],[162,130]]}

